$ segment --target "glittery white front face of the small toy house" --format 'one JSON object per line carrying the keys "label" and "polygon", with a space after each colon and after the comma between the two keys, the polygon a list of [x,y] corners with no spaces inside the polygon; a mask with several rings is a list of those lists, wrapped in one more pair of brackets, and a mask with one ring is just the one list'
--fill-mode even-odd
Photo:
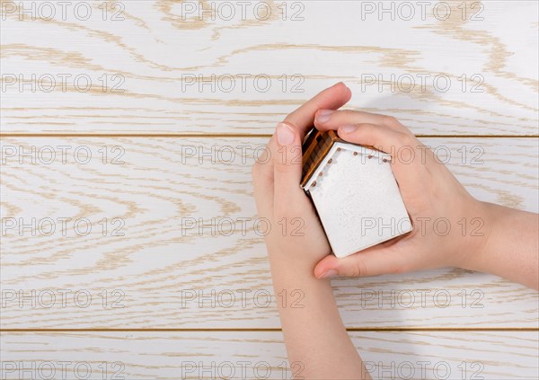
{"label": "glittery white front face of the small toy house", "polygon": [[349,256],[411,231],[391,164],[384,162],[384,158],[390,156],[338,143],[305,186],[337,257]]}

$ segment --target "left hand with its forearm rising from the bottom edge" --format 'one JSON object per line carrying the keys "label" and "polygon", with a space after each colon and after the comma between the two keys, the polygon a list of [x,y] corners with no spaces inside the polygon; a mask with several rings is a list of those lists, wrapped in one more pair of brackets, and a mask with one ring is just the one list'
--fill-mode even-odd
{"label": "left hand with its forearm rising from the bottom edge", "polygon": [[336,84],[289,114],[270,139],[270,161],[266,155],[252,167],[259,216],[271,224],[265,238],[288,360],[302,364],[305,378],[370,378],[340,319],[330,280],[314,278],[316,262],[331,248],[300,188],[301,145],[316,110],[337,109],[350,95]]}

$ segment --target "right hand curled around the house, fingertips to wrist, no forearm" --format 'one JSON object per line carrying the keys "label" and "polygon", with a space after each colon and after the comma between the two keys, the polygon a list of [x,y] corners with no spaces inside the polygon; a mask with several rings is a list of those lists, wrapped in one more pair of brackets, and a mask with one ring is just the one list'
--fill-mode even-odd
{"label": "right hand curled around the house, fingertips to wrist, no forearm", "polygon": [[484,204],[473,199],[408,128],[391,117],[350,110],[319,110],[314,124],[320,130],[338,129],[346,141],[392,155],[393,173],[414,228],[411,234],[343,259],[328,255],[316,266],[316,277],[465,267],[469,255],[481,254],[491,228]]}

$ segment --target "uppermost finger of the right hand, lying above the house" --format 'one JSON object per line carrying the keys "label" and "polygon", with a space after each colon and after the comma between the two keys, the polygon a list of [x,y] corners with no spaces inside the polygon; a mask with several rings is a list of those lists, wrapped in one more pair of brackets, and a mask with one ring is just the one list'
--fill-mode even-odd
{"label": "uppermost finger of the right hand, lying above the house", "polygon": [[314,126],[318,130],[338,129],[349,124],[378,124],[395,130],[406,127],[392,116],[378,115],[361,110],[318,110],[314,117]]}

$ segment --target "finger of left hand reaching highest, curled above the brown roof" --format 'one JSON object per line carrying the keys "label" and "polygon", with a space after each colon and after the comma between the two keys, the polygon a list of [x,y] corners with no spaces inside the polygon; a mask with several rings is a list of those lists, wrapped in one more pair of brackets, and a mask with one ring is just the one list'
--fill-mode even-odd
{"label": "finger of left hand reaching highest, curled above the brown roof", "polygon": [[336,110],[349,102],[351,96],[350,89],[340,82],[326,88],[297,110],[288,114],[285,121],[297,129],[299,137],[303,141],[305,134],[314,125],[314,114],[317,110]]}

